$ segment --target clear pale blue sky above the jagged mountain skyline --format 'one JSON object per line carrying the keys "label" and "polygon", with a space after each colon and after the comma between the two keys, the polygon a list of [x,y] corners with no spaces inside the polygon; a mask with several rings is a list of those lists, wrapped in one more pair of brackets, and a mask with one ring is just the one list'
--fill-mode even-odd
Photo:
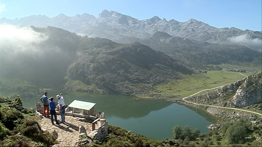
{"label": "clear pale blue sky above the jagged mountain skyline", "polygon": [[139,20],[158,16],[167,21],[190,18],[211,26],[261,30],[262,0],[1,0],[0,17],[14,19],[33,14],[48,17],[89,13],[98,17],[114,10]]}

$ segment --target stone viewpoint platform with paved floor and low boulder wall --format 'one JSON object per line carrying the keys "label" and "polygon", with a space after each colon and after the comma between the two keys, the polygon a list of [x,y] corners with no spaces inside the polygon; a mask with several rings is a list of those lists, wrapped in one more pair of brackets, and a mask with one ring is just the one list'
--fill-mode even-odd
{"label": "stone viewpoint platform with paved floor and low boulder wall", "polygon": [[[42,130],[52,133],[57,138],[58,144],[53,146],[78,146],[81,139],[92,139],[103,141],[108,135],[108,122],[104,117],[104,112],[90,111],[66,108],[65,123],[53,125],[50,118],[42,115],[43,107],[36,103],[36,118]],[[94,116],[95,115],[95,116]],[[61,120],[60,112],[57,111],[57,120]],[[55,122],[55,121],[54,121]]]}

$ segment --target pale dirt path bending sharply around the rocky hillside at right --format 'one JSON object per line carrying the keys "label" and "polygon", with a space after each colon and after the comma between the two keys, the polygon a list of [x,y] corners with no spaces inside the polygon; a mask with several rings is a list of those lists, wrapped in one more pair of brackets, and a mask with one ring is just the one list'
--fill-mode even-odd
{"label": "pale dirt path bending sharply around the rocky hillside at right", "polygon": [[[241,73],[238,73],[238,74],[241,74]],[[245,77],[248,77],[248,76],[246,76],[246,75],[244,75],[244,74],[241,74],[241,75],[243,75],[243,76],[245,76]],[[209,106],[209,107],[217,107],[217,108],[225,108],[225,109],[233,109],[233,110],[239,110],[239,111],[245,111],[245,112],[250,112],[250,113],[254,113],[254,114],[258,114],[258,115],[261,115],[261,116],[262,116],[261,113],[257,113],[257,112],[253,112],[253,111],[248,111],[248,110],[243,110],[243,109],[237,109],[237,108],[231,108],[231,107],[220,107],[220,106],[213,106],[213,105],[197,104],[197,103],[193,103],[193,102],[190,102],[190,101],[188,101],[188,100],[185,100],[186,98],[189,98],[189,97],[191,97],[191,96],[194,96],[194,95],[196,95],[196,94],[198,94],[198,93],[200,93],[200,92],[207,91],[207,90],[212,90],[212,89],[217,89],[217,88],[220,88],[220,87],[223,87],[223,86],[225,86],[225,85],[218,86],[218,87],[215,87],[215,88],[210,88],[210,89],[201,90],[201,91],[196,92],[196,93],[194,93],[194,94],[192,94],[192,95],[190,95],[190,96],[186,96],[186,97],[182,98],[182,100],[185,101],[185,102],[191,103],[191,104],[196,104],[196,105],[201,105],[201,106]]]}

